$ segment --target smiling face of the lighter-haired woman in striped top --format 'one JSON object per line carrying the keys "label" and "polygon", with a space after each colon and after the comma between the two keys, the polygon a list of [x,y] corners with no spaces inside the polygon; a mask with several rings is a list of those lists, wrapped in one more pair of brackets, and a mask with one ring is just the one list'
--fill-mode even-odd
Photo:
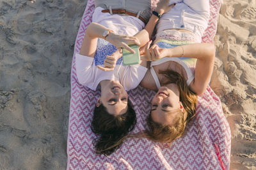
{"label": "smiling face of the lighter-haired woman in striped top", "polygon": [[160,87],[152,99],[151,117],[154,122],[163,125],[173,125],[179,110],[184,111],[179,101],[179,89],[174,83]]}

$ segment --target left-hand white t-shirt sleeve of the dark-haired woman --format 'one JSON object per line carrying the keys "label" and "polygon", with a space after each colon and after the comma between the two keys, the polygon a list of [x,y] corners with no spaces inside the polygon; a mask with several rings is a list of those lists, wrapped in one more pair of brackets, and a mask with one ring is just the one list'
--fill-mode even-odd
{"label": "left-hand white t-shirt sleeve of the dark-haired woman", "polygon": [[94,65],[93,59],[93,57],[76,53],[76,75],[79,83],[95,90],[97,85],[93,87],[93,79],[95,77],[96,66]]}

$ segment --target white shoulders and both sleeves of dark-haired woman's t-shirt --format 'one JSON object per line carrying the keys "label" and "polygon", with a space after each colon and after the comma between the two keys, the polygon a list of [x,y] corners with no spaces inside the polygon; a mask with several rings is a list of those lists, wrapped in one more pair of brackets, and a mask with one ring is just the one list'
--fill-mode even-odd
{"label": "white shoulders and both sleeves of dark-haired woman's t-shirt", "polygon": [[95,66],[93,57],[76,53],[76,74],[79,82],[96,90],[102,80],[118,80],[125,90],[136,88],[147,72],[139,64],[131,66],[116,65],[113,71],[102,71]]}

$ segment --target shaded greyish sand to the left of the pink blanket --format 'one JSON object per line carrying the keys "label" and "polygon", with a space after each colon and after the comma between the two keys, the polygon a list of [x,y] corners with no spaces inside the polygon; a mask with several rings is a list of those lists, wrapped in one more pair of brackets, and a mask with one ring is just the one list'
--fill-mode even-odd
{"label": "shaded greyish sand to the left of the pink blanket", "polygon": [[65,169],[70,67],[86,1],[0,1],[0,169]]}

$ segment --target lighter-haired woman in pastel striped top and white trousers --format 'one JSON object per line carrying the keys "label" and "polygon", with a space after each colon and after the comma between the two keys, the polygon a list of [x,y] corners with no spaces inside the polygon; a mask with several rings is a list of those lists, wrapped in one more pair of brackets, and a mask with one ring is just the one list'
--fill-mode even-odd
{"label": "lighter-haired woman in pastel striped top and white trousers", "polygon": [[147,137],[171,143],[195,116],[197,95],[211,80],[215,48],[200,43],[209,19],[209,1],[172,1],[157,24],[156,41],[141,52],[152,61],[141,85],[156,91],[147,118]]}

